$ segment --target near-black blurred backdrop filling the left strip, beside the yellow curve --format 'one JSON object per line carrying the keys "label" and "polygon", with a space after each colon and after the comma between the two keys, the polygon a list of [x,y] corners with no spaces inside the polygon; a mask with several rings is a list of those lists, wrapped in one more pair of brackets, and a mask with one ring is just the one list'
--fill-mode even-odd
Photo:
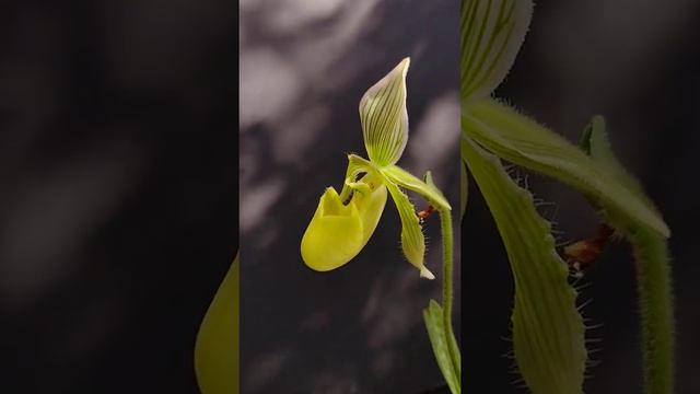
{"label": "near-black blurred backdrop filling the left strip, beside the yellow curve", "polygon": [[237,8],[0,11],[0,392],[197,393],[235,254]]}

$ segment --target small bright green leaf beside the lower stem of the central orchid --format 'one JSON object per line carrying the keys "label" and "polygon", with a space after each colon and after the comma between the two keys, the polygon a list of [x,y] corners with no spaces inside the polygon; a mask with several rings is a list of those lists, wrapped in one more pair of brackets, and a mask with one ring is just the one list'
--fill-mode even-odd
{"label": "small bright green leaf beside the lower stem of the central orchid", "polygon": [[[462,393],[459,367],[452,363],[450,357],[450,350],[447,348],[447,334],[443,324],[443,312],[440,304],[434,300],[430,300],[428,308],[423,310],[423,320],[425,321],[425,327],[428,328],[428,336],[430,337],[430,344],[432,345],[438,360],[440,371],[447,381],[450,391],[453,394]],[[454,340],[454,337],[452,338]],[[458,354],[457,354],[458,355]],[[460,361],[459,361],[460,362]]]}

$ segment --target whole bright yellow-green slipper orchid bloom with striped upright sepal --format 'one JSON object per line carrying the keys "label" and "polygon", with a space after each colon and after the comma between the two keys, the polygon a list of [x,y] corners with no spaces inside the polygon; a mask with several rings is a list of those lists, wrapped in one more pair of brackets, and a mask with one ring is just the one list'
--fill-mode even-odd
{"label": "whole bright yellow-green slipper orchid bloom with striped upright sepal", "polygon": [[401,219],[401,250],[420,276],[434,279],[425,267],[425,240],[416,208],[404,189],[422,195],[435,209],[451,210],[434,186],[397,166],[408,142],[406,73],[409,58],[370,88],[360,100],[360,121],[369,160],[348,155],[341,193],[326,188],[302,239],[301,254],[312,269],[327,271],[357,256],[370,241],[384,207],[387,190]]}

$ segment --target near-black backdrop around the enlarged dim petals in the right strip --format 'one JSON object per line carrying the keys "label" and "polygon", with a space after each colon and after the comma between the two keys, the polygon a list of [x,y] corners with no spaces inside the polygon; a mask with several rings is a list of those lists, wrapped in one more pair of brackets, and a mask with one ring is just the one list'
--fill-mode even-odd
{"label": "near-black backdrop around the enlarged dim petals in the right strip", "polygon": [[[677,316],[677,391],[700,393],[700,2],[536,1],[525,45],[497,95],[579,141],[593,114],[606,116],[619,159],[643,183],[670,227]],[[592,236],[596,218],[576,193],[528,177],[561,242]],[[505,253],[476,185],[463,228],[464,381],[475,393],[523,393],[510,383],[505,339],[513,285]],[[591,348],[586,393],[641,393],[634,268],[628,245],[609,247],[580,282]]]}

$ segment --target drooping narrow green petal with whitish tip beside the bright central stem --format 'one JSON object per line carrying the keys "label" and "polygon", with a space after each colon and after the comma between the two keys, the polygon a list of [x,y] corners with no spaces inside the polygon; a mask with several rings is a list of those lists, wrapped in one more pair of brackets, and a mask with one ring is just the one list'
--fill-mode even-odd
{"label": "drooping narrow green petal with whitish tip beside the bright central stem", "polygon": [[435,276],[425,267],[425,237],[416,215],[416,208],[395,184],[386,182],[398,216],[401,218],[401,250],[406,259],[420,270],[421,278],[435,279]]}

